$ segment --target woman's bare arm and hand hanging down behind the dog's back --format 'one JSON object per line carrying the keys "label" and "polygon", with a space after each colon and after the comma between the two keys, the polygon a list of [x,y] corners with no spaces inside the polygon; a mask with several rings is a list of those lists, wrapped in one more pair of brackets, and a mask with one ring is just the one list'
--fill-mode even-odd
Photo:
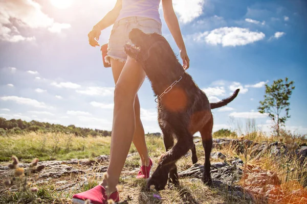
{"label": "woman's bare arm and hand hanging down behind the dog's back", "polygon": [[182,38],[178,18],[172,6],[172,0],[162,0],[162,7],[167,27],[173,36],[178,48],[180,49],[180,57],[182,58],[183,66],[185,69],[187,69],[190,66],[190,59],[187,55],[186,47]]}

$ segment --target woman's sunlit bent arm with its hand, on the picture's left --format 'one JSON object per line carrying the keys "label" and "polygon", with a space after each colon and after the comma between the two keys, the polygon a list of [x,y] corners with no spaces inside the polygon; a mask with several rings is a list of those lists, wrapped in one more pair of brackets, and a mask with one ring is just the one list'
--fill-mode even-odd
{"label": "woman's sunlit bent arm with its hand, on the picture's left", "polygon": [[93,47],[99,46],[97,40],[99,40],[101,31],[106,29],[115,22],[115,20],[119,15],[121,7],[122,7],[122,0],[117,0],[114,8],[111,11],[109,11],[96,25],[94,25],[92,31],[87,35],[89,37],[90,45],[92,45]]}

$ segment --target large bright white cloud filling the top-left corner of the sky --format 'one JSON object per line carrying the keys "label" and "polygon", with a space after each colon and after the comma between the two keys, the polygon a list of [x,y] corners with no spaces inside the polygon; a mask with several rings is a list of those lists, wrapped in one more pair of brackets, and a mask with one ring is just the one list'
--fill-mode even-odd
{"label": "large bright white cloud filling the top-left corner of the sky", "polygon": [[16,0],[0,2],[0,39],[9,42],[32,41],[35,37],[25,37],[13,25],[19,27],[48,28],[51,32],[60,32],[70,28],[67,23],[55,22],[53,18],[42,12],[39,3],[33,0]]}

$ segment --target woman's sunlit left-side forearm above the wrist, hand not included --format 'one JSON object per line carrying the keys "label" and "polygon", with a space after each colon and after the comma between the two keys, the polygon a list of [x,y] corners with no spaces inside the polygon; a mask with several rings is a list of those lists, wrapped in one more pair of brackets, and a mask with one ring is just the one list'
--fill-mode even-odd
{"label": "woman's sunlit left-side forearm above the wrist, hand not included", "polygon": [[98,27],[101,31],[114,24],[121,10],[121,0],[116,2],[115,7],[109,11],[94,27]]}

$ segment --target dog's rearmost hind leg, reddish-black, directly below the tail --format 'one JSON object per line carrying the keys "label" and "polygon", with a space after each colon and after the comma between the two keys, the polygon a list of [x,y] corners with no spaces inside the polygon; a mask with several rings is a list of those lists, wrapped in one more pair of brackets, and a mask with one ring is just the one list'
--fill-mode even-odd
{"label": "dog's rearmost hind leg, reddish-black, directly below the tail", "polygon": [[212,127],[213,127],[213,117],[207,122],[207,124],[200,131],[203,141],[203,147],[205,150],[205,164],[204,164],[204,174],[203,182],[206,184],[212,184],[211,174],[210,174],[210,154],[212,149]]}

